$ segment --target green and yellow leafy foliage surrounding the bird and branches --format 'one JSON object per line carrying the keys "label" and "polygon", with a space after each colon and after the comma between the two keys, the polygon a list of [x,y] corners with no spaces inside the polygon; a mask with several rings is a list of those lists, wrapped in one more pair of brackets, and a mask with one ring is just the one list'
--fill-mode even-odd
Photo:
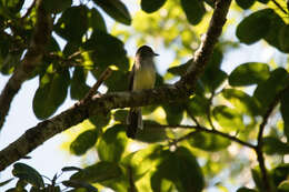
{"label": "green and yellow leafy foliage surrounding the bird and branches", "polygon": [[[33,37],[37,10],[32,6],[23,14],[23,3],[0,0],[0,72],[6,75],[16,72]],[[88,74],[99,79],[108,67],[113,72],[103,85],[110,92],[126,91],[130,64],[124,46],[130,42],[139,46],[156,41],[161,44],[157,48],[171,50],[173,61],[166,73],[158,74],[157,87],[185,74],[196,44],[201,42],[200,34],[209,26],[213,2],[141,0],[138,6],[142,11],[129,11],[129,3],[121,0],[43,0],[42,11],[52,16],[54,34],[66,42],[60,49],[59,39],[51,36],[41,63],[30,77],[39,79],[32,101],[38,119],[51,117],[68,93],[73,100],[83,99],[90,90]],[[98,191],[96,184],[118,192],[200,192],[226,185],[225,174],[238,181],[238,192],[263,191],[265,172],[258,166],[251,169],[253,189],[243,185],[248,179],[238,180],[250,171],[252,161],[243,154],[245,148],[256,151],[261,145],[266,161],[273,164],[267,168],[269,184],[278,192],[288,192],[289,164],[283,162],[289,154],[289,8],[282,0],[236,0],[231,11],[240,19],[229,22],[230,27],[237,24],[238,42],[225,36],[220,39],[190,98],[146,107],[143,113],[149,120],[134,141],[124,133],[126,109],[89,117],[94,128],[80,133],[70,151],[86,158],[89,149],[96,149],[99,160],[94,164],[63,168],[66,173],[73,171],[70,179],[57,184],[56,174],[47,184],[37,170],[16,163],[12,174],[18,181],[8,191],[63,191],[64,186],[76,192]],[[266,42],[262,49],[275,49],[287,61],[231,62],[236,68],[225,70],[222,63],[231,50],[258,42]],[[270,114],[273,123],[267,123]],[[260,135],[260,142],[262,123],[268,131]],[[138,148],[131,150],[133,145]]]}

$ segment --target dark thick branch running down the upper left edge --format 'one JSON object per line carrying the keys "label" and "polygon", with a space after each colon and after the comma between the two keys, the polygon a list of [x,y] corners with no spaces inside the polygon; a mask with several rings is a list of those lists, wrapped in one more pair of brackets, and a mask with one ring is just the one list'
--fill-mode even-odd
{"label": "dark thick branch running down the upper left edge", "polygon": [[16,69],[0,95],[0,128],[2,128],[4,123],[4,119],[14,95],[34,70],[36,65],[41,61],[44,48],[51,36],[51,17],[43,10],[41,3],[42,0],[38,0],[37,23],[31,44],[21,61],[21,64]]}

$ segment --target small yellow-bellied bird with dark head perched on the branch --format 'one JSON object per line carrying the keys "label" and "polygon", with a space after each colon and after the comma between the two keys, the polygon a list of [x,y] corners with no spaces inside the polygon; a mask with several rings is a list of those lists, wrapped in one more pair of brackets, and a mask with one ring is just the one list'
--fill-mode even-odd
{"label": "small yellow-bellied bird with dark head perched on the branch", "polygon": [[[159,55],[149,46],[141,46],[136,53],[130,72],[129,91],[155,88],[156,65],[153,58]],[[138,130],[143,129],[141,108],[131,108],[127,118],[127,137],[134,139]]]}

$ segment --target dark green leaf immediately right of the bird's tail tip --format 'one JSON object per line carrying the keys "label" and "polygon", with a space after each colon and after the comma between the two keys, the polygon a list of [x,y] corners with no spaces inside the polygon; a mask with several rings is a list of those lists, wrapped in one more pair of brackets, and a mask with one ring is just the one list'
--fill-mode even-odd
{"label": "dark green leaf immediately right of the bird's tail tip", "polygon": [[156,121],[143,121],[143,130],[139,130],[136,140],[155,143],[167,140],[166,130],[162,128],[156,128],[159,125]]}

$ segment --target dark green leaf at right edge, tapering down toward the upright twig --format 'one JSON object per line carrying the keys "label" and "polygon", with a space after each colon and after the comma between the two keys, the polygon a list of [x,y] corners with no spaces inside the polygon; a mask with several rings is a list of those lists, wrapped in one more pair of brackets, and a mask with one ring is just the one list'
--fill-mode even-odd
{"label": "dark green leaf at right edge, tapering down toward the upright twig", "polygon": [[289,74],[283,68],[273,70],[267,81],[260,83],[253,92],[253,97],[262,105],[263,112],[271,104],[276,95],[289,84]]}

